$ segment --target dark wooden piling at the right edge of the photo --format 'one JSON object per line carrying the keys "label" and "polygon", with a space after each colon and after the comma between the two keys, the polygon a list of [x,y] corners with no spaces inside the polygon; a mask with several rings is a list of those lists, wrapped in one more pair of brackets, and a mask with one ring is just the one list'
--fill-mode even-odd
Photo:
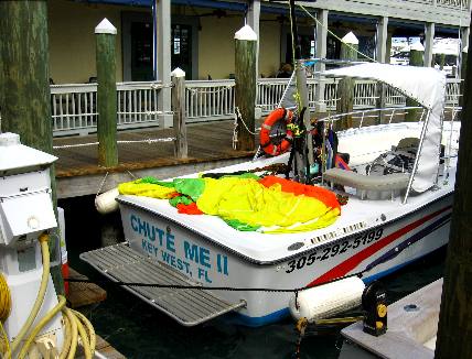
{"label": "dark wooden piling at the right edge of the photo", "polygon": [[[469,56],[468,56],[469,57]],[[468,58],[470,61],[470,57]],[[468,64],[463,119],[472,116],[472,66]],[[472,358],[472,123],[462,121],[459,167],[452,206],[451,230],[442,283],[435,358]]]}

